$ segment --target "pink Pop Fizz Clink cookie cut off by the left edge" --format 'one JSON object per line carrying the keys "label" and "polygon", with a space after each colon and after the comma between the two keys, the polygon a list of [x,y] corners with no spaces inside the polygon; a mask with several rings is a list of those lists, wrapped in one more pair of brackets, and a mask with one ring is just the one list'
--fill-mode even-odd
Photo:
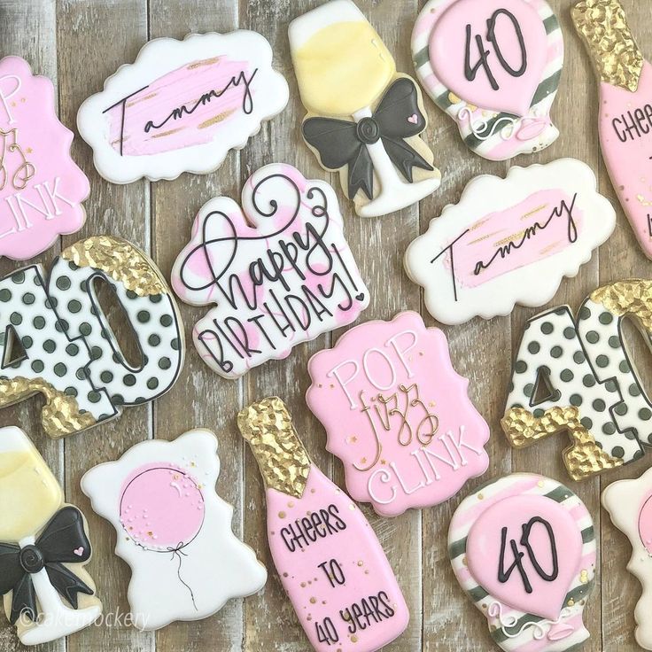
{"label": "pink Pop Fizz Clink cookie cut off by the left edge", "polygon": [[52,82],[22,58],[0,59],[0,255],[27,260],[82,228],[89,180],[72,142]]}

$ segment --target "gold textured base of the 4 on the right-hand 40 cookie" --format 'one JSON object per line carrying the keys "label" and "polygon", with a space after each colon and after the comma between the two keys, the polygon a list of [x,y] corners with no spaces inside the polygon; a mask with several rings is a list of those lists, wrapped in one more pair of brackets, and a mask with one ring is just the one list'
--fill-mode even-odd
{"label": "gold textured base of the 4 on the right-hand 40 cookie", "polygon": [[501,425],[515,448],[532,446],[539,439],[567,431],[571,446],[563,451],[563,462],[573,480],[622,466],[622,459],[611,457],[595,443],[594,436],[580,419],[577,407],[551,407],[540,418],[524,407],[511,407],[501,419]]}

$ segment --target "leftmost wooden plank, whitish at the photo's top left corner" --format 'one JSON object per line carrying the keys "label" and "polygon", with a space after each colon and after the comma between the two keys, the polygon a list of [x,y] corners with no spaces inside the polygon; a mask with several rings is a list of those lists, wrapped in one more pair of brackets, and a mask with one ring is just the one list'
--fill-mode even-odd
{"label": "leftmost wooden plank, whitish at the photo's top left corner", "polygon": [[[17,55],[24,58],[32,67],[34,74],[43,74],[54,83],[55,96],[58,94],[57,66],[57,16],[55,7],[48,0],[38,0],[28,5],[17,4],[11,0],[0,0],[0,25],[11,26],[0,28],[0,58]],[[58,97],[55,97],[58,107]],[[60,113],[59,113],[60,114]],[[64,120],[66,126],[70,126]],[[12,271],[36,262],[43,262],[50,267],[51,260],[60,251],[59,243],[50,247],[41,256],[33,260],[15,261],[3,258],[0,260],[0,277]],[[43,398],[35,397],[19,403],[16,406],[0,410],[0,426],[17,425],[27,433],[50,470],[64,484],[64,445],[62,441],[50,439],[41,426],[41,407]],[[66,495],[67,497],[67,495]],[[4,609],[0,616],[0,652],[12,652],[22,648],[16,636],[16,628],[8,624],[4,617]],[[41,646],[43,651],[62,652],[66,649],[65,640],[55,640]]]}

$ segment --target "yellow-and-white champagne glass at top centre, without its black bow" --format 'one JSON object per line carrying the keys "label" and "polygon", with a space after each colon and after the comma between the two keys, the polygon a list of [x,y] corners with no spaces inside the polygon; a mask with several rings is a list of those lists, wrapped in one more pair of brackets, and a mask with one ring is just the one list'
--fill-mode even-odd
{"label": "yellow-and-white champagne glass at top centre, without its black bow", "polygon": [[[308,112],[353,117],[359,134],[369,127],[371,107],[396,79],[397,72],[392,55],[358,7],[350,0],[332,0],[292,20],[289,35],[299,92]],[[407,120],[412,122],[416,117],[410,115]],[[364,121],[368,124],[364,125]],[[382,139],[376,134],[369,140],[375,142],[363,142],[380,192],[357,209],[359,214],[370,217],[392,213],[439,188],[439,173],[423,181],[403,181]],[[351,168],[349,164],[349,175],[353,174]]]}

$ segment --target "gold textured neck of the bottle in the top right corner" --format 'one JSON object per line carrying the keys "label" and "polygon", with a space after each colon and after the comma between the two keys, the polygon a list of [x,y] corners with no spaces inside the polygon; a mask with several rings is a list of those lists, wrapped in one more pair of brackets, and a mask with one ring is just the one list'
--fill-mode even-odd
{"label": "gold textured neck of the bottle in the top right corner", "polygon": [[600,80],[636,92],[645,60],[622,4],[618,0],[581,0],[573,7],[572,17]]}

